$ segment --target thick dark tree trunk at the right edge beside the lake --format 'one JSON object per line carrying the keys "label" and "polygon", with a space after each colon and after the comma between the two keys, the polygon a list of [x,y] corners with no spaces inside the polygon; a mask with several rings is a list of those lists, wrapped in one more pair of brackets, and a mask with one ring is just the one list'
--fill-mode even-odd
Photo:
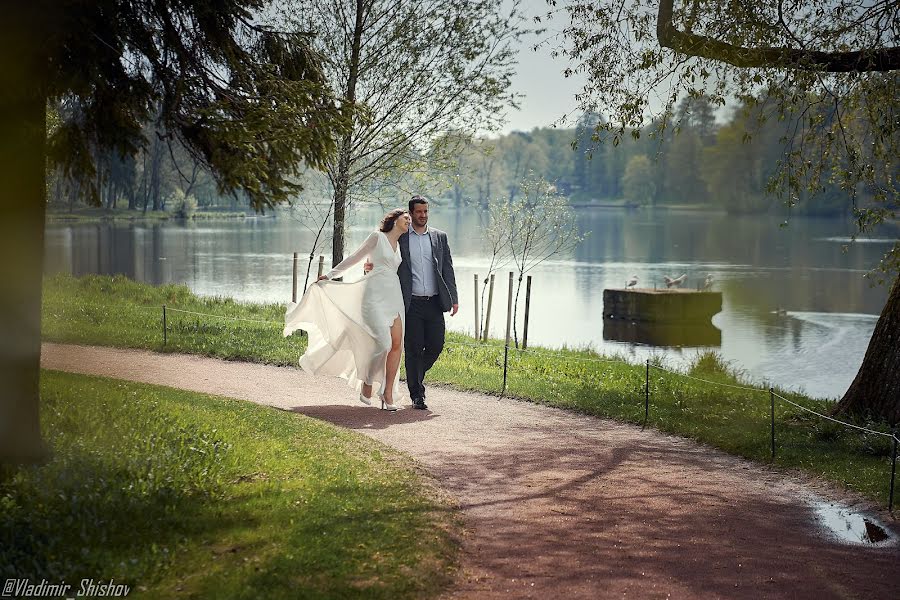
{"label": "thick dark tree trunk at the right edge beside the lake", "polygon": [[900,423],[900,276],[894,279],[856,379],[834,412]]}

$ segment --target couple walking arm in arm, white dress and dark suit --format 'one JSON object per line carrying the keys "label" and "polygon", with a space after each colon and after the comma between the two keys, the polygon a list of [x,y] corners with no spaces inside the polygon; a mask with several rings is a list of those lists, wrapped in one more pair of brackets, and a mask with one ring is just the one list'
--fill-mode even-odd
{"label": "couple walking arm in arm, white dress and dark suit", "polygon": [[[365,262],[359,281],[332,281]],[[284,335],[309,334],[303,370],[347,380],[359,400],[397,410],[400,353],[413,407],[425,409],[425,372],[444,347],[444,313],[459,309],[447,234],[428,227],[428,201],[395,208],[350,256],[319,278],[285,315]]]}

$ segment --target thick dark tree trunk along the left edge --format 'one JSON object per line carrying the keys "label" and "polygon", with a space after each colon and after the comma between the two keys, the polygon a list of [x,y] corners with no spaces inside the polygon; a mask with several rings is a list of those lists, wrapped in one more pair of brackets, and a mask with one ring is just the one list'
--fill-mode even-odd
{"label": "thick dark tree trunk along the left edge", "polygon": [[47,137],[40,5],[14,3],[0,19],[0,463],[46,454],[39,421]]}

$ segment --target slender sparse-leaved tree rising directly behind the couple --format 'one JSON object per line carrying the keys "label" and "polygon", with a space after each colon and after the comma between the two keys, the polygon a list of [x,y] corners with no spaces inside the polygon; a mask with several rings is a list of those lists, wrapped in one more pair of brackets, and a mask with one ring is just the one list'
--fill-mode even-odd
{"label": "slender sparse-leaved tree rising directly behind the couple", "polygon": [[[446,131],[497,124],[513,102],[515,5],[501,0],[295,0],[287,27],[316,33],[352,130],[328,162],[334,190],[332,261],[344,256],[346,210],[361,185],[420,170]],[[359,110],[356,110],[356,108]],[[452,149],[449,149],[452,151]],[[436,158],[436,157],[430,157]]]}

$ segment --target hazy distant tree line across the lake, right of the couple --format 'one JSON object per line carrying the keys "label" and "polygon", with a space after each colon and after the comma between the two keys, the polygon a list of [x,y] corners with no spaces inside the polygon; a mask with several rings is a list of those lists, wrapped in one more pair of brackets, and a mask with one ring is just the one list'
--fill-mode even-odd
{"label": "hazy distant tree line across the lake, right of the couple", "polygon": [[[789,120],[758,119],[759,103],[735,108],[725,123],[704,97],[684,98],[644,129],[599,137],[601,117],[586,114],[576,127],[514,131],[499,138],[455,140],[460,148],[434,176],[451,204],[512,202],[529,174],[552,182],[570,202],[625,201],[646,206],[703,205],[729,213],[783,210],[767,193],[779,161],[791,147]],[[662,127],[661,127],[662,126]],[[661,133],[659,133],[661,132]],[[451,134],[454,135],[454,134]],[[461,137],[456,134],[456,137]],[[865,201],[866,190],[857,190]],[[793,214],[846,215],[851,203],[837,184],[791,201]]]}

